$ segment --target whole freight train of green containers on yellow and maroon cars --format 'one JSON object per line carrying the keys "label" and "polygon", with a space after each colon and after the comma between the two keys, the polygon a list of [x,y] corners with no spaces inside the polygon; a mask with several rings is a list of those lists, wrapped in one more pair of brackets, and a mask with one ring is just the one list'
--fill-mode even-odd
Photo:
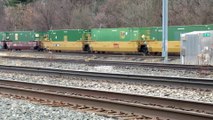
{"label": "whole freight train of green containers on yellow and maroon cars", "polygon": [[[180,35],[213,30],[213,25],[170,26],[169,53],[180,53]],[[8,50],[86,51],[96,53],[161,53],[162,28],[63,29],[45,32],[0,32],[0,48]]]}

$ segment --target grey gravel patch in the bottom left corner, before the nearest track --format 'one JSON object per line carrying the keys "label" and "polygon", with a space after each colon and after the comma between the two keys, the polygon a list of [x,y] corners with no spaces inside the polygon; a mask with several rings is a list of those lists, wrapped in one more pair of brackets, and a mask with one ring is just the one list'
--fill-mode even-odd
{"label": "grey gravel patch in the bottom left corner, before the nearest track", "polygon": [[70,108],[51,107],[0,95],[0,120],[113,120]]}

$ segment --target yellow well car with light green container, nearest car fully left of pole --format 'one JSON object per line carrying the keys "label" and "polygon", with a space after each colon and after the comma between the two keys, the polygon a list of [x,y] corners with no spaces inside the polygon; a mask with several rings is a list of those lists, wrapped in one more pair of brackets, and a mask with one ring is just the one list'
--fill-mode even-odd
{"label": "yellow well car with light green container, nearest car fully left of pole", "polygon": [[144,45],[147,28],[92,29],[89,47],[93,52],[147,52]]}

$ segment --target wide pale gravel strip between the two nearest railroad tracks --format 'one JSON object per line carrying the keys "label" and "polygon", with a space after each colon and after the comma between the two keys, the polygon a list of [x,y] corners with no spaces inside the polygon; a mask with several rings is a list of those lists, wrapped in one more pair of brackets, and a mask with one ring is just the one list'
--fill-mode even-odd
{"label": "wide pale gravel strip between the two nearest railroad tracks", "polygon": [[134,82],[118,82],[113,80],[98,80],[85,77],[41,75],[32,73],[10,73],[0,71],[0,78],[24,82],[49,84],[57,86],[80,87],[95,90],[141,94],[181,100],[201,101],[213,103],[213,91],[188,87],[174,87],[172,85],[138,84]]}

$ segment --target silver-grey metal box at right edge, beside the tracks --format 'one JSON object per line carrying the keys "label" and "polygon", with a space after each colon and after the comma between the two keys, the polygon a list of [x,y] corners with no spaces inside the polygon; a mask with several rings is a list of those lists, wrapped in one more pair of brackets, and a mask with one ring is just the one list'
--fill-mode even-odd
{"label": "silver-grey metal box at right edge, beside the tracks", "polygon": [[182,64],[213,65],[213,31],[196,31],[181,35]]}

